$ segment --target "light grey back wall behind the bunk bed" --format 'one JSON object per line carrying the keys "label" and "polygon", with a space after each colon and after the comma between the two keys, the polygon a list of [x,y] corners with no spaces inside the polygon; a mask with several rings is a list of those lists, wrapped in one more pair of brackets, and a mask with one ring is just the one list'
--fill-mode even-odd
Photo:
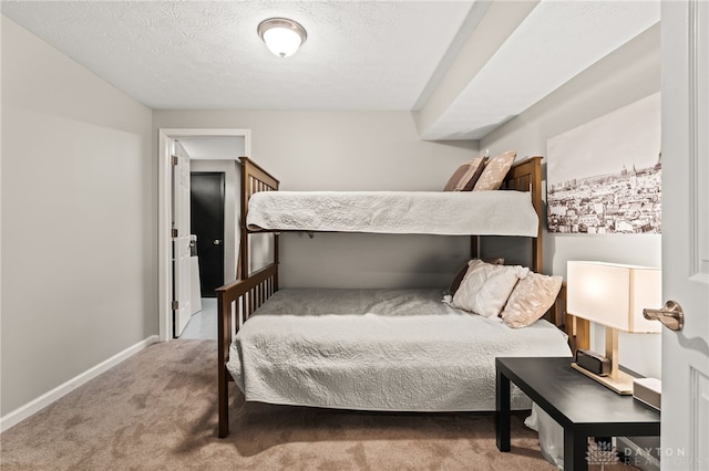
{"label": "light grey back wall behind the bunk bed", "polygon": [[[160,128],[251,129],[251,153],[286,190],[441,190],[476,143],[428,143],[408,112],[156,111]],[[282,286],[445,286],[469,238],[286,233]]]}

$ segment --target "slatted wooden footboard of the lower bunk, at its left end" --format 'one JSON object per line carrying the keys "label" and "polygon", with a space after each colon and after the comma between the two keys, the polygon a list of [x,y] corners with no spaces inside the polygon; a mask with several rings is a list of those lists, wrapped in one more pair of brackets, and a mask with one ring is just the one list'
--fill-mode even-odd
{"label": "slatted wooden footboard of the lower bunk, at its left end", "polygon": [[239,326],[278,290],[278,266],[273,263],[245,280],[216,289],[217,293],[217,402],[219,410],[219,438],[229,435],[229,381],[226,369],[229,346]]}

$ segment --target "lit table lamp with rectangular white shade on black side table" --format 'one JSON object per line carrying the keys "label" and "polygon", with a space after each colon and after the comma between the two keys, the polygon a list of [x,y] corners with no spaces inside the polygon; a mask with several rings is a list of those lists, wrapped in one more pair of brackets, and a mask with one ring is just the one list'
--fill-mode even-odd
{"label": "lit table lamp with rectangular white shade on black side table", "polygon": [[659,333],[661,324],[643,316],[662,304],[661,272],[656,268],[569,261],[566,311],[606,327],[605,357],[610,373],[600,376],[576,363],[572,367],[621,395],[633,394],[634,377],[618,369],[618,331]]}

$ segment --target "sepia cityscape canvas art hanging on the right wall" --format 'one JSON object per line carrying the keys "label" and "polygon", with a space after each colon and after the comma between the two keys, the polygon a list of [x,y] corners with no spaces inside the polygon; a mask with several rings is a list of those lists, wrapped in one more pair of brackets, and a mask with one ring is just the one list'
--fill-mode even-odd
{"label": "sepia cityscape canvas art hanging on the right wall", "polygon": [[660,94],[547,140],[549,232],[661,232]]}

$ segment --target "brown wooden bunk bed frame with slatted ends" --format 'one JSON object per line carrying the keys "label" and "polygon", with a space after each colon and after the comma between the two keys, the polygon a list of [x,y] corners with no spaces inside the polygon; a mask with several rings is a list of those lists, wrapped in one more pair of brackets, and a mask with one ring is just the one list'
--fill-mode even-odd
{"label": "brown wooden bunk bed frame with slatted ends", "polygon": [[[268,171],[264,170],[248,157],[239,157],[242,163],[242,201],[240,201],[240,244],[238,274],[239,279],[233,283],[216,290],[218,301],[218,436],[224,438],[229,433],[228,416],[228,384],[233,381],[232,375],[226,368],[229,359],[229,347],[234,335],[238,332],[239,320],[246,322],[254,311],[264,304],[276,291],[278,291],[278,232],[274,232],[274,261],[267,266],[248,273],[248,242],[250,231],[246,224],[248,200],[251,195],[259,191],[277,191],[279,181]],[[540,228],[536,238],[531,238],[533,271],[542,273],[542,157],[530,157],[510,169],[503,184],[503,190],[531,191],[532,203],[540,218]],[[263,233],[264,231],[258,231]],[[479,237],[471,237],[472,257],[477,257]],[[577,348],[588,348],[589,325],[588,321],[576,318],[566,313],[566,286],[562,286],[555,304],[544,316],[547,321],[563,329],[569,338],[572,352]]]}

